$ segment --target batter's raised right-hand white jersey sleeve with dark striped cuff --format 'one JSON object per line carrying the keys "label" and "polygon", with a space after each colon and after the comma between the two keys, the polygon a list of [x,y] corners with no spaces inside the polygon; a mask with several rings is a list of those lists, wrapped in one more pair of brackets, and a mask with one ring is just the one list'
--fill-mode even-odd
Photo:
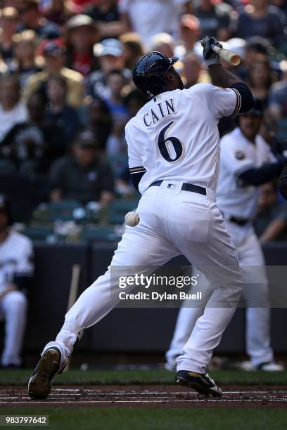
{"label": "batter's raised right-hand white jersey sleeve with dark striped cuff", "polygon": [[221,88],[212,84],[191,87],[192,93],[205,103],[212,117],[235,117],[241,108],[241,95],[235,88]]}

